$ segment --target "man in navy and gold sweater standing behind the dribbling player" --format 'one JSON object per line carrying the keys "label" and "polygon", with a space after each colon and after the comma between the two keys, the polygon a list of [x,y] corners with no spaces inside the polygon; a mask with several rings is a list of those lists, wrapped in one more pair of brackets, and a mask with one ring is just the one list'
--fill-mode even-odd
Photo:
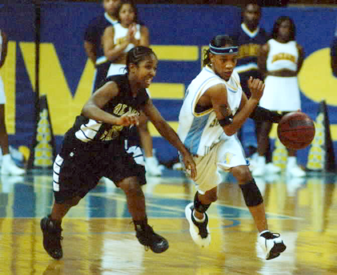
{"label": "man in navy and gold sweater standing behind the dribbling player", "polygon": [[[248,88],[248,79],[250,76],[258,79],[263,79],[261,72],[259,71],[257,59],[260,47],[267,43],[270,36],[267,34],[264,28],[260,26],[261,20],[261,7],[256,2],[251,2],[245,5],[242,11],[242,24],[239,32],[234,35],[239,46],[238,65],[235,71],[240,76],[240,84],[242,90],[246,94],[247,98],[250,98],[251,93]],[[261,128],[261,122],[255,121],[255,134],[258,133]],[[244,143],[242,137],[242,129],[238,132],[239,139]],[[269,173],[280,172],[281,169],[275,166],[271,161],[271,150],[268,148],[266,152],[267,162],[266,170]],[[257,153],[253,155],[250,168],[256,166]],[[254,174],[253,176],[261,176]]]}

